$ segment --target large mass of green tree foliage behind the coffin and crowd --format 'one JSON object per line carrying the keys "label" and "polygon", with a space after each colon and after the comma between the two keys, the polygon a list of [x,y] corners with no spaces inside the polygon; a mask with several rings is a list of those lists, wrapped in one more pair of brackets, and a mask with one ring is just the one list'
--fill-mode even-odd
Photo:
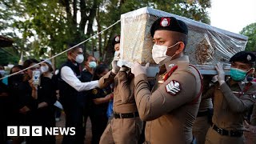
{"label": "large mass of green tree foliage behind the coffin and crowd", "polygon": [[[65,50],[67,43],[82,42],[117,22],[121,14],[145,6],[210,23],[210,0],[2,0],[0,34],[14,38],[19,53],[49,58]],[[86,52],[96,49],[102,61],[110,62],[111,38],[120,34],[120,27],[118,23],[90,39],[84,44]]]}

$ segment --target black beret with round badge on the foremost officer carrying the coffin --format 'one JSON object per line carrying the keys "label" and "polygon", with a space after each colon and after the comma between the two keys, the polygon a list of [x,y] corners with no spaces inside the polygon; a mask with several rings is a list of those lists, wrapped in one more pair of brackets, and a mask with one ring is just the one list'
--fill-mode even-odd
{"label": "black beret with round badge on the foremost officer carrying the coffin", "polygon": [[150,29],[150,34],[152,37],[154,37],[155,30],[177,31],[186,35],[188,33],[186,23],[174,17],[158,18],[156,21],[154,21]]}

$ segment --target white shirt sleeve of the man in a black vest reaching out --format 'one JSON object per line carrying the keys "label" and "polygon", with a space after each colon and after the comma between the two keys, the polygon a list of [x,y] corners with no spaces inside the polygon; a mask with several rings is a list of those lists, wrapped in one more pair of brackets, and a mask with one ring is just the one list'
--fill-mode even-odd
{"label": "white shirt sleeve of the man in a black vest reaching out", "polygon": [[62,67],[61,78],[75,90],[91,90],[98,87],[98,81],[81,82],[75,75],[74,71],[69,66]]}

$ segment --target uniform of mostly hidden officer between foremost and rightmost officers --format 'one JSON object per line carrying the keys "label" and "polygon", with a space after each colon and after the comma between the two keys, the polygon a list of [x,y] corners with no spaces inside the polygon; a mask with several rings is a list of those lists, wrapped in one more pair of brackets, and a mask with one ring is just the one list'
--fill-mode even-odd
{"label": "uniform of mostly hidden officer between foremost and rightmost officers", "polygon": [[203,78],[202,99],[200,102],[197,118],[193,125],[193,135],[197,138],[198,144],[204,144],[206,141],[206,134],[211,126],[211,114],[213,103],[211,98],[206,98],[205,92],[210,88],[211,81],[207,76]]}

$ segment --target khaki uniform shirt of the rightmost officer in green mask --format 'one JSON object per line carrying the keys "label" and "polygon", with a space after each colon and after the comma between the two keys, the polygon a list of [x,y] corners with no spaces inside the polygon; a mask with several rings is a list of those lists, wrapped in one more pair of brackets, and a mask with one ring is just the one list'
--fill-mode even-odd
{"label": "khaki uniform shirt of the rightmost officer in green mask", "polygon": [[243,120],[246,111],[255,102],[255,84],[245,94],[240,94],[246,84],[238,82],[229,86],[226,82],[222,86],[214,86],[207,95],[214,94],[213,123],[225,130],[243,130]]}

